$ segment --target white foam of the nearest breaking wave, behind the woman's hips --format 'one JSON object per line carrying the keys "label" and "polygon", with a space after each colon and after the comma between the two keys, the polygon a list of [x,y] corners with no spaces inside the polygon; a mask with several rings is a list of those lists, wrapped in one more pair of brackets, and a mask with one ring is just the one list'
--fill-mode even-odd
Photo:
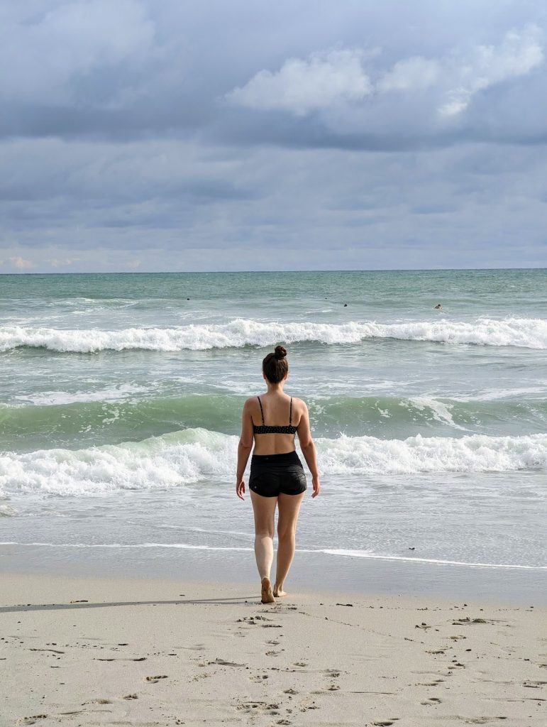
{"label": "white foam of the nearest breaking wave, behind the woman's hips", "polygon": [[[418,435],[405,440],[341,435],[318,438],[316,445],[324,478],[547,469],[547,434]],[[78,496],[165,489],[198,481],[215,485],[233,478],[237,448],[236,436],[190,429],[116,446],[5,453],[0,456],[0,497],[2,490]]]}

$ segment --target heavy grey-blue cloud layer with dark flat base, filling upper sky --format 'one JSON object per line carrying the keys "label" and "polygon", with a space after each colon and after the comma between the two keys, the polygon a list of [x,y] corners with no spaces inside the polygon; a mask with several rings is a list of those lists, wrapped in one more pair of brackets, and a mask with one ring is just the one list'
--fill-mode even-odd
{"label": "heavy grey-blue cloud layer with dark flat base, filling upper sky", "polygon": [[374,0],[0,5],[0,138],[396,150],[547,134],[537,0],[416,0],[396,24]]}

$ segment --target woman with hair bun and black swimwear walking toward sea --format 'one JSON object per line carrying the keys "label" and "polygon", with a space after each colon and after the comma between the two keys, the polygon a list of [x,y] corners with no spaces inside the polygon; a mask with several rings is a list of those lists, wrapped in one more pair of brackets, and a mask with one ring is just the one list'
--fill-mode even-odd
{"label": "woman with hair bun and black swimwear walking toward sea", "polygon": [[[313,492],[320,491],[317,455],[309,433],[307,406],[301,399],[283,392],[288,377],[287,352],[276,346],[262,361],[262,376],[267,393],[247,399],[243,406],[241,438],[238,446],[238,472],[235,491],[240,499],[245,492],[243,473],[253,447],[249,489],[254,511],[254,553],[262,582],[262,603],[275,603],[283,590],[294,556],[296,521],[306,490],[306,475],[294,449],[294,435],[312,473]],[[272,589],[270,569],[273,561],[275,507],[277,516],[277,569]]]}

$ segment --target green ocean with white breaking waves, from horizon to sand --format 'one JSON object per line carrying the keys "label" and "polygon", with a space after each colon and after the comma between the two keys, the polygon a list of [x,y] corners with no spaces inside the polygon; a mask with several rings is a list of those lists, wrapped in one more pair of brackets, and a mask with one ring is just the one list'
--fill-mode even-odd
{"label": "green ocean with white breaking waves, from horizon to sand", "polygon": [[296,562],[534,593],[546,313],[547,270],[0,276],[0,567],[251,574],[240,410],[283,343],[323,483]]}

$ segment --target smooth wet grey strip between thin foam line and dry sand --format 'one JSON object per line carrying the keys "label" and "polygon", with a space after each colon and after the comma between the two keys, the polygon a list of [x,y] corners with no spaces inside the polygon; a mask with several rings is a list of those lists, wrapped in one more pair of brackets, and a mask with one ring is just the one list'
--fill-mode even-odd
{"label": "smooth wet grey strip between thin foam line and dry sand", "polygon": [[[251,548],[244,552],[113,547],[0,547],[0,573],[51,574],[94,579],[111,573],[121,579],[181,582],[235,582],[257,579]],[[440,600],[482,598],[508,606],[547,607],[546,569],[484,568],[447,563],[352,558],[325,553],[296,553],[288,584],[302,592],[353,593],[378,597],[407,595]]]}

